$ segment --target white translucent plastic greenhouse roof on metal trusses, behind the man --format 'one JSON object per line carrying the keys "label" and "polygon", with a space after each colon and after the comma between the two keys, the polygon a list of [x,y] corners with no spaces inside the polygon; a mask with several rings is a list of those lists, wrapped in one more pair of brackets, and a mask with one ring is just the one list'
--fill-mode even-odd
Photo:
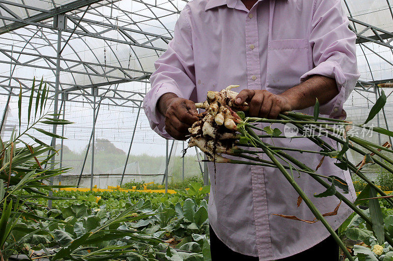
{"label": "white translucent plastic greenhouse roof on metal trusses, behind the man", "polygon": [[[86,10],[87,5],[83,4],[87,2],[91,5]],[[52,17],[35,18],[45,18],[69,6],[76,9],[66,13],[62,46],[76,30],[62,52],[62,90],[131,79],[143,83],[172,38],[174,24],[186,3],[187,0],[0,0],[0,29],[11,28],[22,19],[29,24],[0,34],[0,61],[7,61],[0,65],[0,83],[9,78],[10,71],[12,77],[22,80],[44,75],[47,81],[55,82],[58,33]],[[348,17],[389,32],[393,32],[392,5],[392,0],[342,0]],[[365,25],[351,26],[364,36],[374,36]],[[358,44],[357,51],[362,80],[393,78],[391,48],[369,42]],[[18,86],[14,79],[12,82]],[[134,90],[143,86],[133,82]]]}

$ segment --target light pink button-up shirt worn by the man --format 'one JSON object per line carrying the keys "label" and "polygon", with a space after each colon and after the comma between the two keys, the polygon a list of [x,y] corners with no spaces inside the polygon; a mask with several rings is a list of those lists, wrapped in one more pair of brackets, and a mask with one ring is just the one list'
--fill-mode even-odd
{"label": "light pink button-up shirt worn by the man", "polygon": [[[293,87],[314,74],[336,79],[339,94],[320,107],[321,114],[345,117],[344,101],[359,73],[356,66],[355,34],[340,0],[259,0],[248,10],[241,0],[194,0],[175,25],[168,50],[155,63],[151,90],[143,108],[153,130],[165,138],[164,117],[156,103],[165,93],[201,102],[207,91],[228,85],[268,90],[274,94]],[[302,110],[312,114],[312,108]],[[262,125],[263,127],[264,125]],[[274,124],[273,127],[282,126]],[[283,130],[282,130],[283,131]],[[330,139],[326,142],[336,147]],[[265,142],[272,142],[266,139]],[[276,146],[317,150],[306,138],[275,139]],[[289,153],[315,169],[321,156]],[[268,159],[260,154],[262,159]],[[325,159],[318,173],[337,175],[350,183],[350,174]],[[209,220],[217,236],[236,252],[276,260],[302,252],[329,236],[321,222],[313,224],[273,214],[296,215],[312,220],[306,204],[296,206],[298,194],[275,168],[217,164],[209,165],[211,193]],[[307,174],[294,173],[295,181],[323,213],[332,212],[338,199],[315,198],[325,189]],[[342,204],[338,214],[326,217],[334,229],[351,213]]]}

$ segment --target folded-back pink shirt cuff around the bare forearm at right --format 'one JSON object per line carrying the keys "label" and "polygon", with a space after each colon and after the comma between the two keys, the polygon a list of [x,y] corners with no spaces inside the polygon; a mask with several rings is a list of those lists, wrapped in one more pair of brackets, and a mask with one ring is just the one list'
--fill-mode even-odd
{"label": "folded-back pink shirt cuff around the bare forearm at right", "polygon": [[333,99],[319,107],[320,114],[328,115],[329,118],[345,119],[347,114],[342,107],[345,102],[345,85],[347,80],[341,66],[334,61],[322,62],[311,71],[303,74],[300,78],[300,82],[304,82],[309,77],[316,74],[336,79],[338,89],[338,94]]}

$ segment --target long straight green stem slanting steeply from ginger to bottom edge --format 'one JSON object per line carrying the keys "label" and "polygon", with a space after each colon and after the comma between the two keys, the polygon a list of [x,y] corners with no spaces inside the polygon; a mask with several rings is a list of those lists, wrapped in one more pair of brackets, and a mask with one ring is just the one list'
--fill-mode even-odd
{"label": "long straight green stem slanting steeply from ginger to bottom edge", "polygon": [[[246,127],[246,131],[249,132],[249,134],[251,136],[253,136],[254,138],[256,138],[256,139],[258,138],[258,136],[253,132],[252,129]],[[337,244],[340,246],[340,248],[342,249],[344,254],[347,256],[347,258],[350,261],[354,261],[352,256],[349,254],[345,244],[337,236],[336,232],[333,230],[333,228],[330,226],[330,224],[326,221],[324,216],[319,212],[319,210],[314,206],[314,204],[311,202],[311,200],[308,198],[308,196],[303,192],[303,190],[299,187],[299,185],[294,181],[292,176],[286,171],[286,169],[281,165],[281,163],[274,157],[273,153],[271,152],[271,149],[269,149],[269,147],[267,147],[265,144],[263,144],[263,142],[258,142],[258,144],[261,145],[261,148],[265,151],[266,155],[268,155],[268,157],[276,164],[276,166],[280,169],[281,173],[288,180],[288,182],[291,184],[291,186],[302,197],[303,201],[309,207],[312,214],[314,214],[315,217],[322,222],[322,224],[325,226],[325,228],[329,231],[329,233],[332,235],[332,237],[336,240]]]}

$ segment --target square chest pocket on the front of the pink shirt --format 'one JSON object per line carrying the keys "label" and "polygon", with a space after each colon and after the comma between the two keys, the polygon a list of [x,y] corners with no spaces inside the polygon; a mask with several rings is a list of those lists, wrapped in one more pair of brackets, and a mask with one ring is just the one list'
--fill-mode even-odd
{"label": "square chest pocket on the front of the pink shirt", "polygon": [[300,77],[311,67],[312,56],[307,39],[269,41],[266,90],[281,94],[299,84]]}

